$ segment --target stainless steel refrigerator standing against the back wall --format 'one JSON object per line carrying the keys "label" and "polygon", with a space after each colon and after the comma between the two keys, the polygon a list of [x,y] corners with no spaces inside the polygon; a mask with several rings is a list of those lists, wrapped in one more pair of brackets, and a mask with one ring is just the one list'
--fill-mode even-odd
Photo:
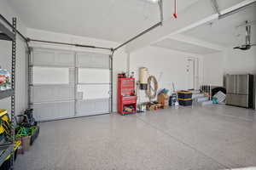
{"label": "stainless steel refrigerator standing against the back wall", "polygon": [[226,75],[226,105],[253,108],[253,75]]}

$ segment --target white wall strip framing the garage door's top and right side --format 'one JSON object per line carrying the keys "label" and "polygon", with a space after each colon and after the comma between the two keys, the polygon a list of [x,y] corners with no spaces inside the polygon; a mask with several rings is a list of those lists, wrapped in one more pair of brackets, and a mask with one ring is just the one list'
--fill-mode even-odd
{"label": "white wall strip framing the garage door's top and right side", "polygon": [[[41,31],[35,29],[27,29],[27,36],[32,39],[55,41],[55,42],[69,42],[69,43],[80,43],[86,45],[95,45],[105,48],[114,48],[118,45],[116,42],[109,42],[105,40],[90,38],[90,37],[77,37],[68,34],[56,33],[52,31]],[[47,44],[42,42],[30,42],[30,46],[38,48],[57,48],[73,51],[91,51],[103,54],[110,54],[109,50],[98,50],[90,48],[77,48],[73,46]],[[126,71],[127,54],[123,48],[120,48],[113,56],[113,111],[117,109],[117,74],[122,71]]]}

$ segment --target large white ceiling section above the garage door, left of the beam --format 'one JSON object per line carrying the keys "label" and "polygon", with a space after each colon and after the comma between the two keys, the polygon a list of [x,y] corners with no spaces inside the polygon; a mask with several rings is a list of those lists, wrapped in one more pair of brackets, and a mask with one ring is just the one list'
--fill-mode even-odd
{"label": "large white ceiling section above the garage door, left of the beam", "polygon": [[[164,1],[165,20],[173,1]],[[178,10],[198,0],[179,0]],[[26,26],[122,42],[160,20],[157,3],[147,0],[9,0]]]}

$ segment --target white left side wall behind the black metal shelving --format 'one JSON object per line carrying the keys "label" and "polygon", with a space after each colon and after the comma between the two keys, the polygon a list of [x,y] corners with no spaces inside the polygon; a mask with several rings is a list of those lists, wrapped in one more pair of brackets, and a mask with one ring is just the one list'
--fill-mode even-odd
{"label": "white left side wall behind the black metal shelving", "polygon": [[[9,7],[8,0],[0,1],[0,13],[12,23],[12,17],[17,17],[17,28],[22,34],[26,34],[26,26],[15,14],[13,8]],[[1,20],[2,22],[2,20]],[[3,23],[3,22],[2,22]],[[0,41],[0,65],[3,69],[11,71],[11,42]],[[26,44],[17,36],[16,48],[16,114],[22,113],[27,107],[27,86],[26,86]],[[10,99],[0,101],[1,109],[10,111]]]}

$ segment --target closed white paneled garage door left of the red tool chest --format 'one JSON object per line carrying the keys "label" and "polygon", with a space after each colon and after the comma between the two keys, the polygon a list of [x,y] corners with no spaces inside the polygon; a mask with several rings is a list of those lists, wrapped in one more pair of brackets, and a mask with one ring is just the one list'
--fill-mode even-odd
{"label": "closed white paneled garage door left of the red tool chest", "polygon": [[38,121],[109,113],[108,54],[34,48],[30,104]]}

